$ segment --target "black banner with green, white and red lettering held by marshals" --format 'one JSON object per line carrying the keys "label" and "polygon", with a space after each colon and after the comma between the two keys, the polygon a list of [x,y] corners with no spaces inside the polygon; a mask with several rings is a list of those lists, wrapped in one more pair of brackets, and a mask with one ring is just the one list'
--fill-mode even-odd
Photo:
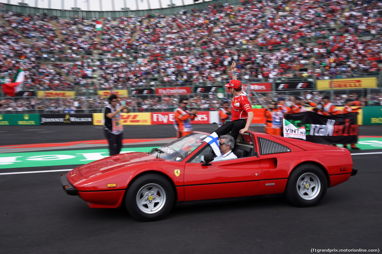
{"label": "black banner with green, white and red lettering held by marshals", "polygon": [[358,113],[323,116],[314,112],[286,115],[296,127],[304,126],[306,141],[319,144],[355,144],[358,139]]}

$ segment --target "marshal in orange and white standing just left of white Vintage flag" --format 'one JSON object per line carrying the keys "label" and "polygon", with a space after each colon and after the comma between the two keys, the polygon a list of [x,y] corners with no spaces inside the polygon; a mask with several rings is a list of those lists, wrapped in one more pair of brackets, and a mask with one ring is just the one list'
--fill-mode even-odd
{"label": "marshal in orange and white standing just left of white Vintage flag", "polygon": [[281,136],[281,130],[283,127],[284,114],[281,110],[276,109],[276,102],[270,101],[267,109],[264,111],[265,121],[265,133]]}

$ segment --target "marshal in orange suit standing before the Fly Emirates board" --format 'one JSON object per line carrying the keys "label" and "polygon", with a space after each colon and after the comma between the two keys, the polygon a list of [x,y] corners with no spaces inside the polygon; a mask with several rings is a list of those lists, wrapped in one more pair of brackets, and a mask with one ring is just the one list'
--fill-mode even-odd
{"label": "marshal in orange suit standing before the Fly Emirates board", "polygon": [[181,138],[192,132],[191,121],[196,117],[197,110],[187,109],[188,98],[180,98],[179,108],[175,109],[174,113],[174,127],[176,129],[176,137]]}

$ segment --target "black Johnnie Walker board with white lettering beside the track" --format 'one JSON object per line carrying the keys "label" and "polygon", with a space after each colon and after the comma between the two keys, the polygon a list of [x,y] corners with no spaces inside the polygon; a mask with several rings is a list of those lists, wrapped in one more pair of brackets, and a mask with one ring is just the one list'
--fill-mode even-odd
{"label": "black Johnnie Walker board with white lettering beside the track", "polygon": [[40,114],[41,125],[92,125],[93,114]]}

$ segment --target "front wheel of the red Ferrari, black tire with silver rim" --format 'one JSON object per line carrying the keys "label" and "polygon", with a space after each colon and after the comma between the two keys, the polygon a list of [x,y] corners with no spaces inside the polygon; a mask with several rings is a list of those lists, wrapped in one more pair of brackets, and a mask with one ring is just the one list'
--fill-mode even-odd
{"label": "front wheel of the red Ferrari, black tire with silver rim", "polygon": [[128,186],[126,209],[140,221],[153,221],[165,217],[174,204],[174,190],[162,175],[147,174],[136,178]]}

